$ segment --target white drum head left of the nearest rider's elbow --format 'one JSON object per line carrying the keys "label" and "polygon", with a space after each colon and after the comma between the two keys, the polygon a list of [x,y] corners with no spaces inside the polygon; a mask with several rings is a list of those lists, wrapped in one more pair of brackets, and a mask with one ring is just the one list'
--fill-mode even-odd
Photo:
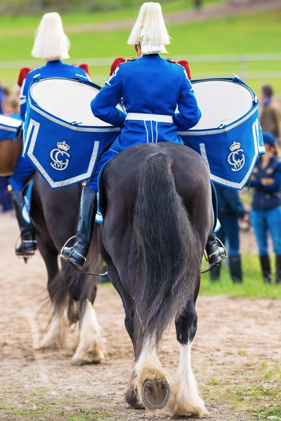
{"label": "white drum head left of the nearest rider's elbow", "polygon": [[[41,109],[67,123],[110,126],[97,119],[91,110],[91,101],[98,93],[98,88],[70,79],[42,79],[30,88],[30,95]],[[120,106],[117,108],[122,109]]]}

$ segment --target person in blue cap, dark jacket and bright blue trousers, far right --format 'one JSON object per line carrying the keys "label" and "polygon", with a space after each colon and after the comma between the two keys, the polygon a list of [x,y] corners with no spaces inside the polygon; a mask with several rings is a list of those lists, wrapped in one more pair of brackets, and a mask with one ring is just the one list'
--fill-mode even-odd
{"label": "person in blue cap, dark jacket and bright blue trousers, far right", "polygon": [[281,283],[281,162],[278,146],[271,133],[263,133],[266,154],[256,163],[251,179],[254,198],[251,203],[251,222],[259,246],[263,281],[271,282],[268,255],[268,234],[276,255],[276,283]]}

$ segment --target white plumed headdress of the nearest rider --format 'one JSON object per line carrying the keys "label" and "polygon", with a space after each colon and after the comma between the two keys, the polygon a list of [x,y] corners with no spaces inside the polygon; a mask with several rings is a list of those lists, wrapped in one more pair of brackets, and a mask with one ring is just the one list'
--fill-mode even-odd
{"label": "white plumed headdress of the nearest rider", "polygon": [[170,44],[162,8],[159,3],[144,3],[131,31],[128,44],[141,44],[143,53],[166,53],[164,46]]}

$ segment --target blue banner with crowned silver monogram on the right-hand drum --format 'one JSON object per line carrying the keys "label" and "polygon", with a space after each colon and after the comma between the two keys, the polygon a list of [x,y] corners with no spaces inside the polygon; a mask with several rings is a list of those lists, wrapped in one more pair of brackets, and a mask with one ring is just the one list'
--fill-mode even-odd
{"label": "blue banner with crowned silver monogram on the right-hand drum", "polygon": [[[236,79],[234,83],[242,82]],[[265,153],[259,123],[259,103],[254,98],[249,112],[229,125],[178,133],[185,145],[204,157],[209,165],[211,180],[218,184],[242,189],[254,170],[256,159]]]}

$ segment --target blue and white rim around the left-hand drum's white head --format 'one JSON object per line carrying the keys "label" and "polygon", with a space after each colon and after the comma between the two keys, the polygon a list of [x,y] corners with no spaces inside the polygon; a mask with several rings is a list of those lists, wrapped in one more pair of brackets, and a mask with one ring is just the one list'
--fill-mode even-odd
{"label": "blue and white rim around the left-hand drum's white head", "polygon": [[[60,117],[55,116],[54,114],[51,114],[50,112],[46,111],[46,109],[40,107],[40,105],[32,97],[32,94],[31,94],[32,86],[35,86],[40,81],[48,81],[48,80],[56,80],[56,79],[73,81],[73,82],[77,82],[77,83],[83,83],[84,85],[89,85],[93,88],[98,89],[98,91],[100,91],[100,89],[101,89],[101,86],[97,85],[96,83],[93,83],[89,80],[84,80],[84,79],[78,80],[78,79],[72,79],[72,78],[68,78],[68,77],[42,77],[40,80],[34,79],[34,81],[32,82],[32,84],[30,86],[29,92],[28,92],[28,101],[29,101],[29,105],[32,109],[39,112],[39,114],[45,116],[47,119],[49,119],[51,121],[54,121],[55,123],[58,123],[61,126],[65,126],[67,128],[71,128],[72,130],[76,130],[76,131],[97,131],[97,132],[98,131],[100,131],[100,132],[121,131],[121,128],[116,128],[112,125],[110,125],[110,126],[84,126],[84,125],[80,125],[79,126],[79,125],[76,125],[76,124],[71,124],[68,121],[60,119]],[[121,103],[119,103],[118,105],[122,108],[122,111],[125,112],[124,106]],[[91,129],[100,129],[100,130],[91,130]]]}

